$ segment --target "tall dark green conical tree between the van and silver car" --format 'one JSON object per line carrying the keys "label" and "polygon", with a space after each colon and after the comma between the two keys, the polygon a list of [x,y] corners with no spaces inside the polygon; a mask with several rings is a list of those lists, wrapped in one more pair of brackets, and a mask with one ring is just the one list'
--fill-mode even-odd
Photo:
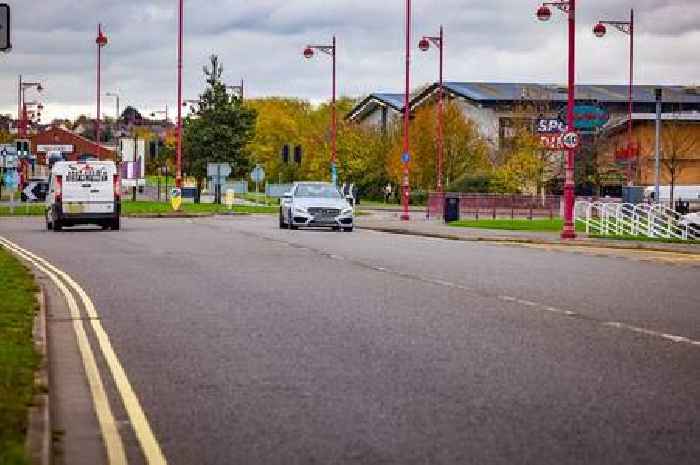
{"label": "tall dark green conical tree between the van and silver car", "polygon": [[212,68],[204,69],[208,87],[195,105],[195,113],[184,121],[185,170],[197,179],[198,188],[206,177],[209,162],[231,164],[234,175],[247,173],[247,148],[255,134],[256,111],[229,95],[219,79],[223,68],[215,58],[212,55]]}

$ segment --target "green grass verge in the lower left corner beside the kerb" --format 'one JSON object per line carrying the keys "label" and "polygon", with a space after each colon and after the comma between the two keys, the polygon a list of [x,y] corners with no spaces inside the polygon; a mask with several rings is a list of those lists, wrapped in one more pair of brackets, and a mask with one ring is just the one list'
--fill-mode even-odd
{"label": "green grass verge in the lower left corner beside the kerb", "polygon": [[34,395],[32,326],[36,285],[29,272],[0,247],[0,463],[25,465],[27,410]]}

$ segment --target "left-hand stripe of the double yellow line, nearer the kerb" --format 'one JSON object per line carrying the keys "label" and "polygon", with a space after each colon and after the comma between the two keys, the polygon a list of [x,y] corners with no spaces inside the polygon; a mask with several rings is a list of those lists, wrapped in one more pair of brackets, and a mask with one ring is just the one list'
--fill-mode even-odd
{"label": "left-hand stripe of the double yellow line, nearer the kerb", "polygon": [[[0,238],[0,242],[3,242],[2,238]],[[3,244],[5,243],[3,242]],[[105,391],[104,384],[102,383],[100,372],[97,368],[97,362],[95,361],[95,354],[90,348],[90,343],[88,341],[87,334],[85,333],[85,327],[83,326],[83,322],[80,318],[78,304],[76,303],[73,294],[71,294],[68,288],[66,288],[63,282],[61,282],[61,280],[58,279],[54,273],[41,266],[36,260],[20,252],[19,250],[7,246],[7,244],[5,244],[5,246],[15,255],[32,263],[38,270],[42,271],[46,276],[48,276],[65,297],[71,317],[73,318],[73,330],[78,342],[78,349],[83,360],[85,376],[88,380],[90,394],[92,395],[92,402],[97,415],[97,421],[100,425],[100,431],[102,433],[105,449],[107,451],[107,461],[110,465],[126,465],[127,460],[126,452],[124,450],[124,443],[122,442],[121,435],[119,434],[119,429],[114,419],[112,409],[109,406],[107,393]]]}

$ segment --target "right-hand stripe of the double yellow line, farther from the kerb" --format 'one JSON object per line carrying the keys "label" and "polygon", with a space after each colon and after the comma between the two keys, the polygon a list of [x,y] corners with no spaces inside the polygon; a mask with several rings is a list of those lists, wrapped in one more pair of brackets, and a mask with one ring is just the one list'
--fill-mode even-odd
{"label": "right-hand stripe of the double yellow line, farther from the kerb", "polygon": [[102,327],[100,317],[97,314],[92,299],[90,299],[90,297],[83,290],[83,288],[70,276],[68,276],[68,274],[51,265],[48,261],[34,255],[30,251],[23,249],[22,247],[10,242],[9,240],[3,237],[0,237],[0,242],[7,243],[11,247],[21,251],[22,253],[30,257],[33,257],[34,259],[36,259],[36,261],[44,264],[46,268],[52,270],[58,276],[63,278],[68,283],[68,285],[70,285],[78,293],[85,306],[87,316],[91,318],[92,329],[97,338],[97,342],[102,352],[102,356],[104,357],[107,366],[109,367],[109,370],[112,374],[112,378],[114,379],[114,383],[117,386],[117,391],[119,392],[122,402],[124,403],[124,407],[126,409],[127,415],[129,416],[132,428],[134,429],[136,438],[138,439],[139,444],[141,445],[141,450],[143,451],[143,454],[146,458],[146,462],[148,463],[148,465],[166,465],[167,460],[165,459],[165,455],[163,454],[163,451],[161,450],[160,445],[156,440],[155,434],[153,433],[153,429],[151,428],[148,419],[146,418],[146,414],[144,413],[143,408],[141,407],[141,403],[139,402],[138,397],[136,396],[136,393],[134,392],[134,389],[132,388],[131,383],[129,382],[129,378],[126,375],[126,372],[124,371],[121,362],[119,362],[117,354],[114,352],[112,343],[110,342],[107,333]]}

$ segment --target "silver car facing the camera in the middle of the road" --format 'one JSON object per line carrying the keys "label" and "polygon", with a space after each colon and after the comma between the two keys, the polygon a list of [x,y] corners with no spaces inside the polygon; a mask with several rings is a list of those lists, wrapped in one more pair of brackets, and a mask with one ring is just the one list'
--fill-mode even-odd
{"label": "silver car facing the camera in the middle of the road", "polygon": [[326,182],[299,182],[284,195],[280,204],[281,229],[330,227],[352,231],[353,209],[336,186]]}

